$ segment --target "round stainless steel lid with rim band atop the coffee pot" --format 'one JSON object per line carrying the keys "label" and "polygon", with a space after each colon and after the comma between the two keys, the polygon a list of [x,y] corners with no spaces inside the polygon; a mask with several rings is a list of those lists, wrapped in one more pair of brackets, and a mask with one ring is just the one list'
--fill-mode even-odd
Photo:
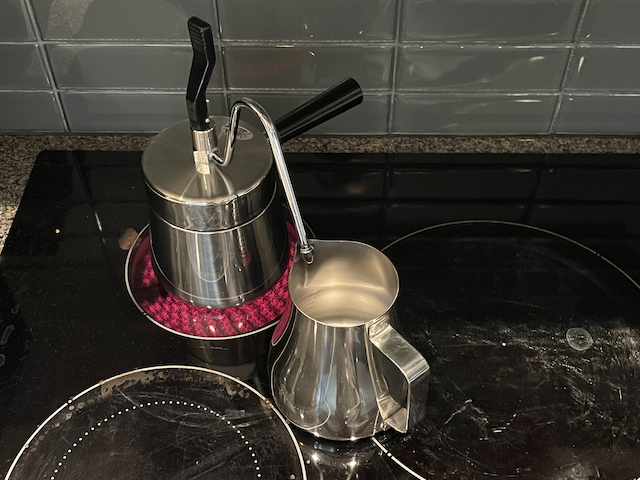
{"label": "round stainless steel lid with rim band atop the coffee pot", "polygon": [[[211,117],[218,145],[226,141],[227,117]],[[150,208],[172,225],[213,231],[233,228],[262,213],[273,199],[276,176],[264,134],[240,122],[231,162],[210,162],[210,173],[196,170],[187,120],[156,135],[142,154]],[[194,219],[206,225],[194,227]]]}

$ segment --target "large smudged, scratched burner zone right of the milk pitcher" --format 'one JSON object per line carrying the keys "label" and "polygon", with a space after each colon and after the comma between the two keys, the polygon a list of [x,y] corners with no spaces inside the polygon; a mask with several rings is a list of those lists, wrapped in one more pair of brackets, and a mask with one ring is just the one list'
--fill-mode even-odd
{"label": "large smudged, scratched burner zone right of the milk pitcher", "polygon": [[[460,222],[408,240],[385,253],[432,384],[426,420],[381,448],[422,478],[635,478],[638,285],[521,225]],[[592,343],[576,348],[576,329]]]}

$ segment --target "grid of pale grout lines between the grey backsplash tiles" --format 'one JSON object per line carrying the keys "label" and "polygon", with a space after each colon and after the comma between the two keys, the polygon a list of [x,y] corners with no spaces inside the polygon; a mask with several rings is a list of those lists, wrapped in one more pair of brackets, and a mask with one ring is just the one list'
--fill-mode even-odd
{"label": "grid of pale grout lines between the grey backsplash tiles", "polygon": [[[1,1],[1,0],[0,0]],[[151,89],[91,89],[91,88],[64,88],[57,85],[56,78],[54,75],[54,69],[52,66],[52,62],[49,59],[47,46],[103,46],[103,47],[165,47],[165,48],[190,48],[190,42],[188,39],[177,39],[175,41],[170,40],[161,40],[158,42],[144,40],[140,42],[135,41],[108,41],[108,40],[100,40],[100,41],[91,41],[91,40],[80,40],[80,41],[72,41],[72,40],[45,40],[43,38],[43,33],[40,30],[38,19],[35,12],[34,3],[36,0],[22,0],[21,4],[23,6],[23,13],[25,17],[28,17],[28,22],[31,24],[33,35],[35,35],[34,40],[28,41],[2,41],[0,42],[0,46],[8,45],[31,45],[36,46],[38,50],[38,55],[40,56],[40,60],[43,64],[43,68],[45,69],[45,74],[50,83],[50,89],[1,89],[0,92],[41,92],[41,93],[52,93],[54,95],[54,99],[56,101],[56,108],[58,109],[58,113],[60,115],[62,124],[64,126],[65,132],[70,132],[71,128],[69,126],[69,122],[67,119],[67,114],[65,112],[65,108],[62,102],[62,94],[66,92],[71,93],[92,93],[92,94],[145,94],[145,95],[174,95],[174,94],[183,94],[182,89],[164,89],[164,90],[151,90]],[[539,98],[547,98],[547,97],[556,97],[555,105],[552,112],[552,117],[550,119],[550,123],[548,125],[548,129],[546,134],[552,134],[557,130],[557,124],[559,121],[560,111],[563,105],[563,102],[567,102],[569,97],[586,97],[586,96],[629,96],[629,97],[638,97],[640,96],[640,92],[621,92],[621,91],[571,91],[568,89],[568,84],[570,82],[570,69],[572,68],[572,64],[574,63],[578,53],[577,48],[627,48],[627,49],[640,49],[640,45],[625,45],[625,44],[607,44],[607,43],[590,43],[584,40],[580,40],[580,34],[584,28],[584,23],[586,19],[587,12],[589,8],[594,3],[591,0],[582,0],[582,10],[580,12],[580,16],[578,18],[578,22],[576,25],[576,29],[573,32],[573,37],[571,42],[559,42],[559,43],[529,43],[529,44],[517,44],[517,43],[497,43],[497,42],[452,42],[452,41],[401,41],[402,38],[402,27],[404,20],[404,7],[405,2],[408,0],[397,0],[395,5],[395,32],[393,35],[393,39],[388,40],[240,40],[240,39],[222,39],[222,25],[220,21],[220,0],[210,0],[213,4],[213,8],[215,11],[215,20],[216,27],[218,29],[218,49],[220,53],[220,58],[218,63],[221,65],[217,68],[222,68],[222,86],[219,88],[210,89],[211,93],[214,94],[222,94],[224,97],[224,104],[227,108],[227,111],[230,106],[230,96],[236,93],[249,93],[254,92],[256,94],[281,94],[281,95],[295,95],[295,94],[311,94],[315,92],[320,92],[323,89],[321,88],[234,88],[229,86],[229,82],[227,79],[227,70],[225,68],[224,56],[223,56],[223,47],[266,47],[266,48],[277,48],[279,46],[293,46],[295,48],[304,48],[304,47],[323,47],[328,49],[339,49],[339,48],[354,48],[354,49],[393,49],[392,59],[390,65],[390,85],[388,87],[382,88],[373,88],[367,89],[367,95],[370,96],[388,96],[388,112],[386,112],[386,130],[388,135],[415,135],[417,133],[401,133],[401,132],[393,132],[393,122],[395,117],[395,106],[398,95],[406,95],[407,97],[411,96],[429,96],[429,97],[539,97]],[[457,49],[457,48],[468,48],[470,50],[473,49],[493,49],[493,48],[503,48],[509,50],[517,50],[517,49],[531,49],[531,48],[541,48],[541,49],[551,49],[551,50],[559,50],[559,49],[569,49],[569,54],[567,56],[566,66],[564,69],[564,73],[562,75],[561,83],[559,90],[557,91],[537,91],[537,92],[505,92],[500,90],[488,90],[488,91],[461,91],[461,90],[430,90],[430,89],[398,89],[398,70],[399,70],[399,61],[401,48],[409,47],[409,48],[420,48],[423,47],[425,49]],[[208,89],[209,90],[209,89]],[[362,133],[361,135],[366,135],[366,133]],[[451,135],[451,134],[443,134],[443,135]],[[453,134],[456,135],[456,134]],[[473,134],[472,134],[473,135]],[[506,134],[513,135],[513,134]],[[522,135],[522,133],[516,133],[515,135]],[[535,134],[534,134],[535,135]]]}

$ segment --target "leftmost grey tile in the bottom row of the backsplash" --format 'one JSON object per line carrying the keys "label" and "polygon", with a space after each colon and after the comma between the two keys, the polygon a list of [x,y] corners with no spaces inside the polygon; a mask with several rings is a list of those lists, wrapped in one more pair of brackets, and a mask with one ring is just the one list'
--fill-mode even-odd
{"label": "leftmost grey tile in the bottom row of the backsplash", "polygon": [[0,130],[64,132],[52,92],[0,92]]}

